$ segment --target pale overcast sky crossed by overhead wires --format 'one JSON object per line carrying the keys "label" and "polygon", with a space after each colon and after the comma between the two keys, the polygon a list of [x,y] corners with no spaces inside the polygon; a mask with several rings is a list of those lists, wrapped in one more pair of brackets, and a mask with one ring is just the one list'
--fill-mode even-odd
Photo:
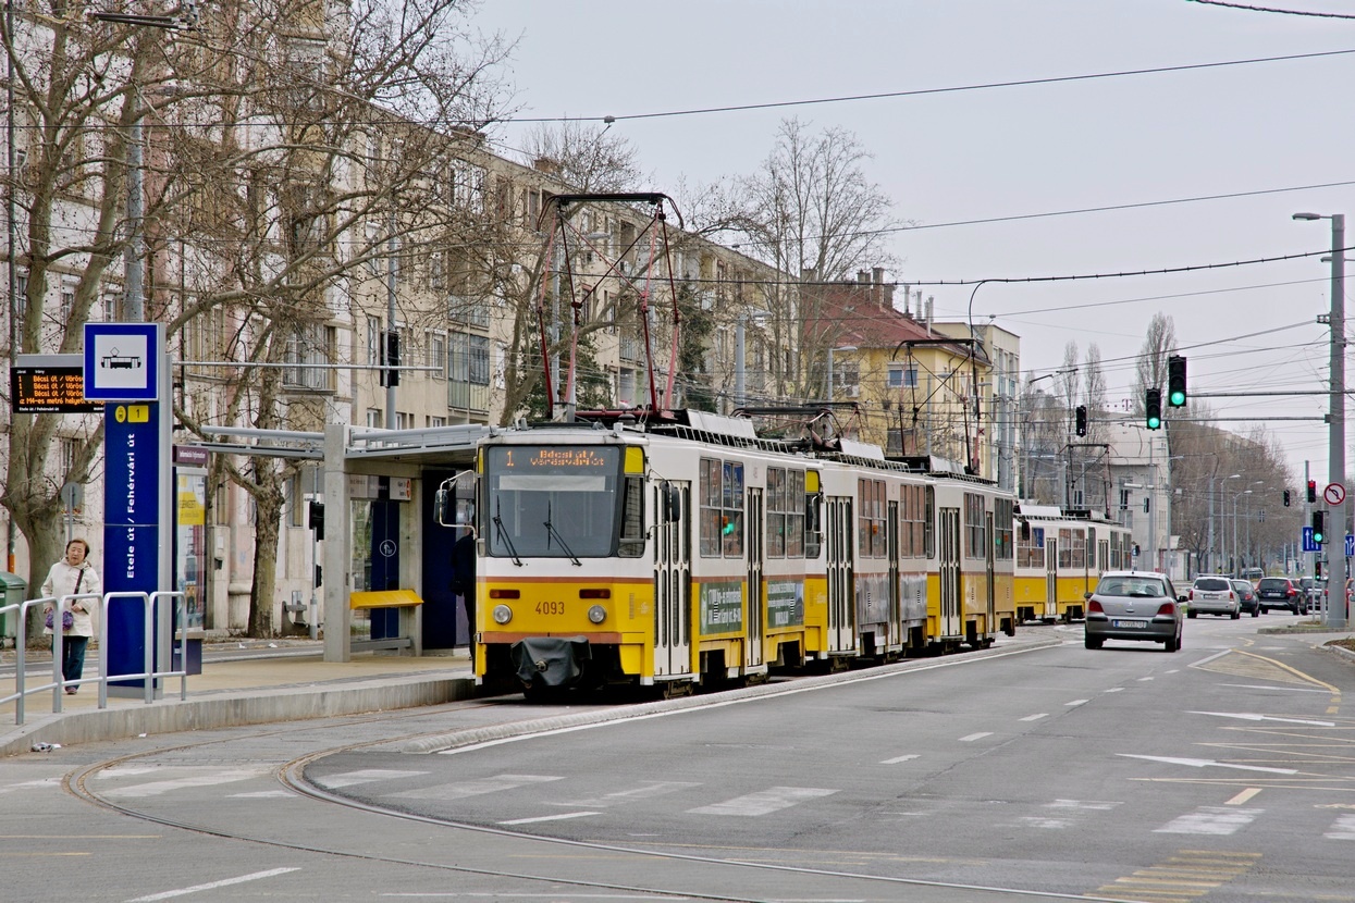
{"label": "pale overcast sky crossed by overhead wires", "polygon": [[[1352,0],[1256,5],[1355,16]],[[1355,18],[1188,0],[488,0],[473,22],[518,41],[509,74],[520,116],[626,116],[1355,51]],[[893,237],[901,264],[889,278],[898,283],[1118,273],[1331,248],[1329,221],[1291,214],[1355,214],[1352,83],[1355,53],[1337,53],[622,119],[612,129],[653,173],[637,188],[668,194],[679,177],[753,172],[785,118],[854,133],[873,154],[870,179],[897,218],[917,226]],[[505,126],[501,150],[520,146],[527,127]],[[1285,191],[1331,183],[1347,184]],[[1201,200],[1154,203],[1182,199]],[[1093,207],[1112,210],[1039,215]],[[1313,256],[985,284],[974,315],[996,315],[1018,333],[1023,370],[1035,374],[1058,367],[1068,341],[1081,351],[1095,343],[1112,405],[1129,399],[1133,357],[1159,311],[1175,321],[1192,393],[1318,390],[1328,384],[1329,333],[1316,318],[1331,309],[1329,275]],[[935,296],[938,318],[963,318],[973,291],[921,290]],[[1327,410],[1325,395],[1210,403],[1229,417]],[[1324,483],[1327,426],[1290,420],[1271,429],[1295,479],[1308,459]]]}

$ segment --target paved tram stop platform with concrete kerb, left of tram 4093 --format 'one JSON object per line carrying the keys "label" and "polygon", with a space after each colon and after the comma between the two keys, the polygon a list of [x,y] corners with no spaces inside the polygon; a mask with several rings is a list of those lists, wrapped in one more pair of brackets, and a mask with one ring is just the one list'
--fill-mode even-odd
{"label": "paved tram stop platform with concrete kerb, left of tram 4093", "polygon": [[[43,745],[72,746],[142,734],[267,724],[309,718],[436,705],[474,693],[465,647],[424,650],[421,657],[355,653],[348,662],[325,662],[321,640],[244,640],[209,643],[201,674],[161,682],[160,699],[108,695],[100,709],[98,681],[61,696],[51,711],[51,690],[28,693],[24,723],[15,724],[15,703],[0,705],[0,755],[28,753]],[[14,650],[0,651],[0,686],[12,693]],[[30,686],[51,680],[51,655],[30,653]],[[85,658],[85,676],[98,674],[98,651]]]}

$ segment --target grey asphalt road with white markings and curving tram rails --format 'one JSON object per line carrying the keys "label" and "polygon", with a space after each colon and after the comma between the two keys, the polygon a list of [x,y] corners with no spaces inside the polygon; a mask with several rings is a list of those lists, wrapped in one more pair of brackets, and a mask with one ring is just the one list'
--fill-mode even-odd
{"label": "grey asphalt road with white markings and curving tram rails", "polygon": [[0,761],[4,899],[1355,900],[1355,666],[1293,620]]}

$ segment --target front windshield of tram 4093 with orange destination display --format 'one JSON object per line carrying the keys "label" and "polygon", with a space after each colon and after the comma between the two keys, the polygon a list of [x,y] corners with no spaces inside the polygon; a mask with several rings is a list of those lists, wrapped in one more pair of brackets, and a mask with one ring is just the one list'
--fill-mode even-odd
{"label": "front windshield of tram 4093 with orange destination display", "polygon": [[489,554],[603,558],[617,543],[621,449],[511,445],[485,460]]}

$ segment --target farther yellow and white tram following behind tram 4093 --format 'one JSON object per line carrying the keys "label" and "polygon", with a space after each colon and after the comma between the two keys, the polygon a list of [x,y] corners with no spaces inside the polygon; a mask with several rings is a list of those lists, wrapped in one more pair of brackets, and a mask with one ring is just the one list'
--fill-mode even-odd
{"label": "farther yellow and white tram following behind tram 4093", "polygon": [[1085,593],[1108,570],[1133,567],[1126,527],[1088,510],[1020,505],[1016,531],[1016,617],[1070,621],[1085,615]]}

